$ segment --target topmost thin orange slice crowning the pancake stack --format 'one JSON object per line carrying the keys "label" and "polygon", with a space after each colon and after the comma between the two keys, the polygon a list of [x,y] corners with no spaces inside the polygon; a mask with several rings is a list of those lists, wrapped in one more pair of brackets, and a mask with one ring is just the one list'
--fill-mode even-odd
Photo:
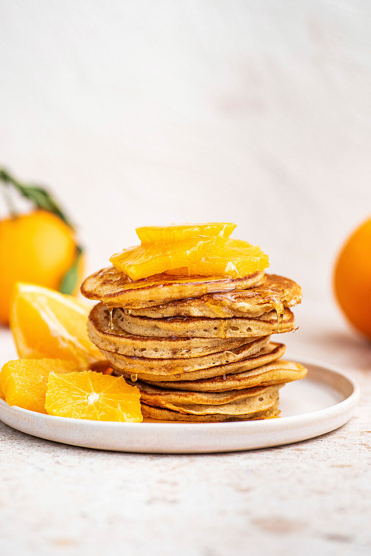
{"label": "topmost thin orange slice crowning the pancake stack", "polygon": [[142,226],[136,229],[142,245],[156,241],[182,241],[192,237],[229,237],[236,224],[232,222],[206,222],[206,224],[179,224],[172,226]]}

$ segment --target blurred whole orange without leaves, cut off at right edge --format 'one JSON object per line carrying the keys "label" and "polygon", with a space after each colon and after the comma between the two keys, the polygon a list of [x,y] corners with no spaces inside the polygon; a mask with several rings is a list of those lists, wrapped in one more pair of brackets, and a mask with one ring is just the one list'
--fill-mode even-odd
{"label": "blurred whole orange without leaves, cut off at right edge", "polygon": [[345,316],[371,338],[371,218],[353,232],[340,251],[334,288]]}

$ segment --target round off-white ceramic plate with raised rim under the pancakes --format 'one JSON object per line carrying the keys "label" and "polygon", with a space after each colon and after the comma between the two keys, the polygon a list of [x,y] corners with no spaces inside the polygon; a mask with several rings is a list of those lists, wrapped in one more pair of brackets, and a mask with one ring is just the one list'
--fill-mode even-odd
{"label": "round off-white ceramic plate with raised rim under the pancakes", "polygon": [[291,444],[339,428],[350,419],[359,387],[339,369],[300,361],[308,375],[280,390],[280,419],[234,423],[110,423],[43,415],[9,407],[0,419],[23,433],[63,444],[160,454],[253,450]]}

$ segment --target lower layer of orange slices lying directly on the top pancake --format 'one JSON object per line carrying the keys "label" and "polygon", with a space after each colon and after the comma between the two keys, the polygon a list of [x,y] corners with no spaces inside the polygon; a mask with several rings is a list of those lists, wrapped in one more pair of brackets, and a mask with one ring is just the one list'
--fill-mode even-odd
{"label": "lower layer of orange slices lying directly on the top pancake", "polygon": [[113,255],[110,261],[134,281],[162,272],[173,275],[172,271],[179,269],[181,274],[174,275],[239,278],[269,266],[268,256],[260,247],[220,235],[138,245]]}

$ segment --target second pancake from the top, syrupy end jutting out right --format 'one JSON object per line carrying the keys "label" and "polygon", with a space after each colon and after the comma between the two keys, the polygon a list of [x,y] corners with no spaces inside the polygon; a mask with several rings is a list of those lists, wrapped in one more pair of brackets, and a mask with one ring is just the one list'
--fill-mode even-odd
{"label": "second pancake from the top, syrupy end jutting out right", "polygon": [[133,316],[161,319],[173,316],[215,318],[257,317],[272,310],[283,311],[301,301],[301,287],[293,280],[266,274],[261,285],[248,290],[205,294],[199,298],[171,301],[147,309],[132,309]]}

